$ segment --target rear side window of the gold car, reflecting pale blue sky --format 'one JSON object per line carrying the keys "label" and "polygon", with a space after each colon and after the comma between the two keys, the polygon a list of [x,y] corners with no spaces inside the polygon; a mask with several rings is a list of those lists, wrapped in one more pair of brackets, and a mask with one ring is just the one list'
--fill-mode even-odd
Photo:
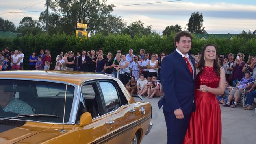
{"label": "rear side window of the gold car, reflecting pale blue sky", "polygon": [[111,82],[100,82],[100,88],[106,103],[107,113],[120,106],[117,89]]}

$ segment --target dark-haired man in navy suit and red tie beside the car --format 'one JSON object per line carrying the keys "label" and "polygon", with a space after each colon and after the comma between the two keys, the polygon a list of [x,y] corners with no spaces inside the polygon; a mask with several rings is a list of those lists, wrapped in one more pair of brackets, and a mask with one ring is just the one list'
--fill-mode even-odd
{"label": "dark-haired man in navy suit and red tie beside the car", "polygon": [[188,53],[192,35],[186,31],[176,34],[176,50],[161,62],[161,82],[165,96],[158,102],[163,105],[167,127],[167,144],[182,144],[189,126],[190,114],[195,111],[195,60]]}

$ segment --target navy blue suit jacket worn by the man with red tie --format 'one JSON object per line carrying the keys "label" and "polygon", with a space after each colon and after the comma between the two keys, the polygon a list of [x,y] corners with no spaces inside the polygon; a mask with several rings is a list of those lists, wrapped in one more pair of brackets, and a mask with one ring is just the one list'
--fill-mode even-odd
{"label": "navy blue suit jacket worn by the man with red tie", "polygon": [[174,50],[161,62],[161,84],[165,96],[158,102],[159,109],[173,113],[181,109],[183,113],[189,114],[195,111],[195,59],[189,55],[194,67],[194,78],[191,75],[184,58]]}

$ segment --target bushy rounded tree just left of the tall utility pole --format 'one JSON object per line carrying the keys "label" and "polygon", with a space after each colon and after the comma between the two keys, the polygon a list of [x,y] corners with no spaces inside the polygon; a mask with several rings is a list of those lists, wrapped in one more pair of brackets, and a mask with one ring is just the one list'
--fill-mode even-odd
{"label": "bushy rounded tree just left of the tall utility pole", "polygon": [[20,21],[20,25],[17,31],[25,35],[26,33],[32,33],[33,35],[41,32],[41,25],[37,20],[33,20],[31,17],[24,17]]}

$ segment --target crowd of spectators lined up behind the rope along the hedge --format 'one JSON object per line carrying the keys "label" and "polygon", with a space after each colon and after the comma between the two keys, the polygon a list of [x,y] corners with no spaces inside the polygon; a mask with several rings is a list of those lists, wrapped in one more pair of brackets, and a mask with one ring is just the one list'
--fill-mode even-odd
{"label": "crowd of spectators lined up behind the rope along the hedge", "polygon": [[[40,50],[40,54],[32,52],[29,57],[28,70],[50,70],[50,65],[55,64],[54,70],[83,71],[105,74],[119,78],[131,94],[140,94],[146,98],[163,96],[161,89],[161,61],[167,56],[165,52],[150,54],[141,49],[139,55],[135,55],[130,49],[127,53],[117,50],[116,53],[104,54],[103,49],[76,52],[60,52],[55,61],[52,62],[50,51]],[[107,54],[107,55],[106,55]],[[115,55],[114,55],[115,54]],[[198,66],[201,52],[195,58],[195,66]],[[5,48],[0,52],[0,70],[23,70],[24,54],[22,50],[9,51]],[[245,55],[238,53],[236,57],[230,53],[227,56],[220,55],[219,65],[226,72],[226,91],[222,96],[217,96],[219,103],[224,106],[237,107],[241,93],[247,92],[248,98],[245,109],[252,109],[256,91],[256,59],[249,55],[247,63]],[[235,87],[232,89],[232,87]],[[249,98],[250,96],[250,98]],[[234,98],[234,103],[231,101]]]}

